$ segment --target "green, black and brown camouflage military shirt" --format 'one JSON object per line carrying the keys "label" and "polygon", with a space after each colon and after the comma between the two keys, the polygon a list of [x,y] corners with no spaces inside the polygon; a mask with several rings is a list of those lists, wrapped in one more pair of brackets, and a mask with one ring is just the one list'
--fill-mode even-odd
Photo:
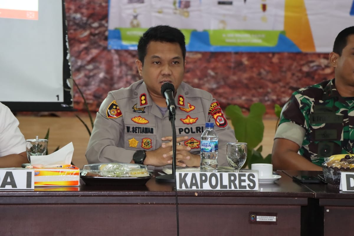
{"label": "green, black and brown camouflage military shirt", "polygon": [[344,98],[335,79],[294,92],[280,123],[293,122],[305,129],[299,154],[316,165],[325,157],[352,152],[354,99]]}

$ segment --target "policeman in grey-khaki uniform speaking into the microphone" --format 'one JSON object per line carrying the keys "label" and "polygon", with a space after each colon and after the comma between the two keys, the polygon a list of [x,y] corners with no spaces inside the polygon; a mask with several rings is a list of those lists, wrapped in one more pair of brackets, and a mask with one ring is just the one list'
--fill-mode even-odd
{"label": "policeman in grey-khaki uniform speaking into the microphone", "polygon": [[169,82],[176,90],[176,165],[200,166],[200,136],[205,122],[214,122],[218,165],[227,166],[226,143],[235,142],[234,131],[210,93],[182,82],[185,53],[184,35],[176,28],[159,25],[143,34],[136,60],[142,80],[104,99],[87,146],[89,163],[132,162],[149,168],[172,163],[172,128],[161,94]]}

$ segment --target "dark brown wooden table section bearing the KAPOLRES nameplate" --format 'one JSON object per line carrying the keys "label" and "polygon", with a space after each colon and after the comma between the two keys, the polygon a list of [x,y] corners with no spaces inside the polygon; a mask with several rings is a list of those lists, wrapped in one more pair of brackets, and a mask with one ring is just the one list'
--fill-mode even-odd
{"label": "dark brown wooden table section bearing the KAPOLRES nameplate", "polygon": [[[304,209],[314,192],[278,173],[282,178],[259,185],[257,192],[178,191],[179,234],[300,235],[307,228],[302,222],[309,222]],[[173,189],[173,184],[157,183],[152,177],[139,186],[82,184],[69,189],[73,191],[1,191],[0,235],[177,235]],[[316,194],[327,197],[325,193]],[[346,203],[334,198],[338,205]],[[345,217],[339,215],[340,206],[328,207],[333,214],[329,219]],[[276,224],[252,222],[253,213],[275,214]]]}

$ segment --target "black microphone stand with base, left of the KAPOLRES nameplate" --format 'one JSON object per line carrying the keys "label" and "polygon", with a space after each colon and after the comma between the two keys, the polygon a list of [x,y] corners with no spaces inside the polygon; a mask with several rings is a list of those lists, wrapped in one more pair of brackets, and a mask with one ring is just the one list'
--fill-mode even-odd
{"label": "black microphone stand with base, left of the KAPOLRES nameplate", "polygon": [[[176,135],[176,112],[172,114],[171,109],[169,109],[169,120],[172,126],[172,174],[165,174],[156,176],[157,182],[164,183],[175,183],[176,179],[176,145],[177,145],[177,135]],[[176,186],[175,186],[176,187]]]}

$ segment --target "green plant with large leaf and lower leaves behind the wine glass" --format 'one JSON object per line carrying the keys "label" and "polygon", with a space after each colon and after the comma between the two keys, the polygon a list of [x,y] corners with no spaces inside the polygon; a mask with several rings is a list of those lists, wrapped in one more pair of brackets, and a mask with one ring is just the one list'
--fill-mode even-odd
{"label": "green plant with large leaf and lower leaves behind the wine glass", "polygon": [[225,114],[230,118],[234,126],[235,137],[238,142],[247,143],[247,159],[243,166],[251,166],[252,163],[271,163],[272,155],[262,156],[262,142],[264,133],[263,115],[265,106],[262,103],[254,103],[250,107],[248,116],[242,114],[238,105],[229,105],[225,109]]}

